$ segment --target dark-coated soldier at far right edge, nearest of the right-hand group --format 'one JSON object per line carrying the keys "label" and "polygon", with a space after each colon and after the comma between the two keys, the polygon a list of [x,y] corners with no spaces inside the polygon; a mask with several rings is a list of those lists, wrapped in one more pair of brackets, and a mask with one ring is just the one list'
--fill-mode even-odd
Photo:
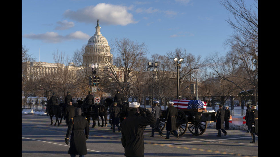
{"label": "dark-coated soldier at far right edge, nearest of the right-hand group", "polygon": [[258,120],[258,110],[256,109],[256,106],[255,104],[251,104],[251,113],[250,113],[250,119],[251,119],[251,135],[252,135],[252,141],[250,143],[256,143],[256,135],[258,135],[258,124],[259,124],[259,120]]}

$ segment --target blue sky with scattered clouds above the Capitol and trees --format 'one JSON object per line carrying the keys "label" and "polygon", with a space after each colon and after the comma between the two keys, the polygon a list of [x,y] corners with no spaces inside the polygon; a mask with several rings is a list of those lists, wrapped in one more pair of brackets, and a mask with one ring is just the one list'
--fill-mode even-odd
{"label": "blue sky with scattered clouds above the Capitol and trees", "polygon": [[[95,33],[145,42],[150,54],[175,48],[195,56],[225,53],[232,34],[228,11],[218,0],[22,0],[21,43],[36,61],[54,62],[53,52],[73,52]],[[247,3],[252,3],[248,1]],[[40,53],[39,53],[40,52]]]}

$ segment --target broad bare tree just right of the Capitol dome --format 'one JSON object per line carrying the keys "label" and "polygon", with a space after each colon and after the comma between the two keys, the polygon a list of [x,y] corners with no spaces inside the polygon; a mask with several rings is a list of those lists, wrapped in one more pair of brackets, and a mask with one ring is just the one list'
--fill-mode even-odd
{"label": "broad bare tree just right of the Capitol dome", "polygon": [[[148,53],[147,45],[142,42],[134,42],[128,38],[115,38],[114,60],[104,60],[106,68],[104,72],[112,81],[117,83],[117,88],[122,91],[124,97],[134,94],[134,78],[145,70],[141,66],[145,62],[145,55]],[[143,67],[141,69],[141,67]]]}

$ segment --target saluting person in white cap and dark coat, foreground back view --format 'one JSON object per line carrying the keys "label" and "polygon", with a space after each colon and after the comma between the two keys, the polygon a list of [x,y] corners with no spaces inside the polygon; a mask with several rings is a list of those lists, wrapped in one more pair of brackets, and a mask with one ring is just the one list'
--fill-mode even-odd
{"label": "saluting person in white cap and dark coat, foreground back view", "polygon": [[149,110],[145,110],[146,116],[139,113],[140,103],[129,103],[129,116],[121,123],[121,144],[125,148],[125,156],[144,156],[143,131],[147,125],[156,122]]}

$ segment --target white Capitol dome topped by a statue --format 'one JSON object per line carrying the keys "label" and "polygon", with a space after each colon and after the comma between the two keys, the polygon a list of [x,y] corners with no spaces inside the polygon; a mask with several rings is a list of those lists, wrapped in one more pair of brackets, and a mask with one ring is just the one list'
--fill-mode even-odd
{"label": "white Capitol dome topped by a statue", "polygon": [[83,63],[85,64],[103,64],[112,61],[113,55],[111,54],[111,48],[107,39],[100,33],[100,28],[99,20],[97,20],[95,34],[89,38],[85,47],[85,53],[83,54]]}

